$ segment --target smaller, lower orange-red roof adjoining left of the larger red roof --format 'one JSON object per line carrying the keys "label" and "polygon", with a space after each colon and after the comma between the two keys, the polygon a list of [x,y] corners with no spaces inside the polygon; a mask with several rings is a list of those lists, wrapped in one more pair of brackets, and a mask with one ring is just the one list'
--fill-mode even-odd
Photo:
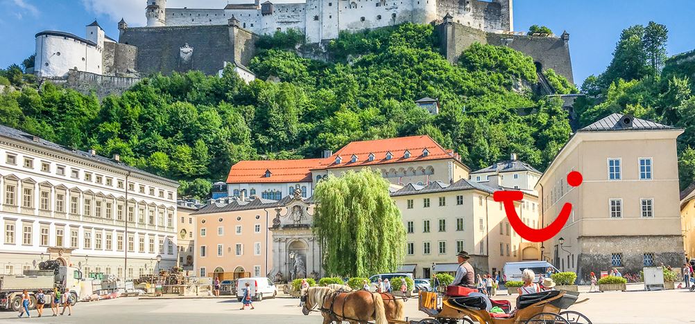
{"label": "smaller, lower orange-red roof adjoining left of the larger red roof", "polygon": [[[323,159],[240,161],[231,166],[227,183],[311,182],[311,169]],[[270,171],[270,178],[265,171]]]}

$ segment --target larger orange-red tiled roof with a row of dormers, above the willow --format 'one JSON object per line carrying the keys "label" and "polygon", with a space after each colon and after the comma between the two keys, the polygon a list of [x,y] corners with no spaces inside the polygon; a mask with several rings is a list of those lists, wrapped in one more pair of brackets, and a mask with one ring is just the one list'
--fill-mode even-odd
{"label": "larger orange-red tiled roof with a row of dormers, above the willow", "polygon": [[[427,148],[428,155],[423,156],[423,150]],[[410,157],[405,157],[405,151],[410,152]],[[386,160],[386,153],[391,152],[391,160]],[[369,161],[369,155],[374,154],[374,160]],[[352,155],[357,155],[357,162],[350,162]],[[341,157],[341,164],[336,164],[336,158]],[[363,167],[375,164],[389,164],[400,162],[418,162],[426,160],[441,160],[454,158],[459,160],[459,155],[453,150],[447,150],[434,142],[427,135],[397,137],[390,139],[376,139],[373,141],[352,142],[343,146],[334,153],[321,168],[333,169],[343,167]]]}

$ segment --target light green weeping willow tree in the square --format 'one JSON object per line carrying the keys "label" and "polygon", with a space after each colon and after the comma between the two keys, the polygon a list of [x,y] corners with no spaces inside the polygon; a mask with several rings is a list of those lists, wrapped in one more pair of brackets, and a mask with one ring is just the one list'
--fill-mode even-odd
{"label": "light green weeping willow tree in the square", "polygon": [[329,176],[318,183],[314,198],[313,230],[327,273],[367,277],[398,268],[405,229],[381,173],[363,169]]}

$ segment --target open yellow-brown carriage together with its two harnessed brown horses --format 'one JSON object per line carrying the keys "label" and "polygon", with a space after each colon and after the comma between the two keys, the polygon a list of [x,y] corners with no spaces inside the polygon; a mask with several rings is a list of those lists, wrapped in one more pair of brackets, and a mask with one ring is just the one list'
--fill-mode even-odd
{"label": "open yellow-brown carriage together with its two harnessed brown horses", "polygon": [[[490,300],[478,293],[442,296],[440,305],[439,293],[420,291],[418,309],[429,317],[420,321],[404,321],[402,301],[390,294],[353,292],[361,294],[358,298],[347,291],[325,287],[310,289],[311,292],[302,295],[306,300],[304,314],[321,312],[324,324],[341,321],[360,324],[591,324],[584,314],[563,311],[578,298],[578,293],[569,291],[541,291],[518,296],[514,310],[512,303],[507,300]],[[492,307],[496,307],[498,312],[490,312]]]}

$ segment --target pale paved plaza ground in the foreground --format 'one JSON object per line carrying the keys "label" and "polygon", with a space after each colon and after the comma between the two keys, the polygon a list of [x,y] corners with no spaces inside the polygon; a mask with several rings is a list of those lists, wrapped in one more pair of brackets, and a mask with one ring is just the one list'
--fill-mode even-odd
{"label": "pale paved plaza ground in the foreground", "polygon": [[[692,323],[695,292],[685,289],[637,291],[639,285],[625,292],[582,293],[589,300],[570,309],[587,315],[594,324],[622,323]],[[512,300],[515,296],[498,296]],[[17,318],[15,312],[0,312],[0,323],[321,323],[321,316],[302,315],[298,299],[276,298],[256,302],[256,309],[240,311],[240,303],[226,298],[137,299],[118,298],[98,302],[80,302],[72,316]],[[35,316],[36,311],[31,311]],[[45,314],[51,314],[47,309]],[[406,316],[423,318],[417,300],[406,303]]]}

